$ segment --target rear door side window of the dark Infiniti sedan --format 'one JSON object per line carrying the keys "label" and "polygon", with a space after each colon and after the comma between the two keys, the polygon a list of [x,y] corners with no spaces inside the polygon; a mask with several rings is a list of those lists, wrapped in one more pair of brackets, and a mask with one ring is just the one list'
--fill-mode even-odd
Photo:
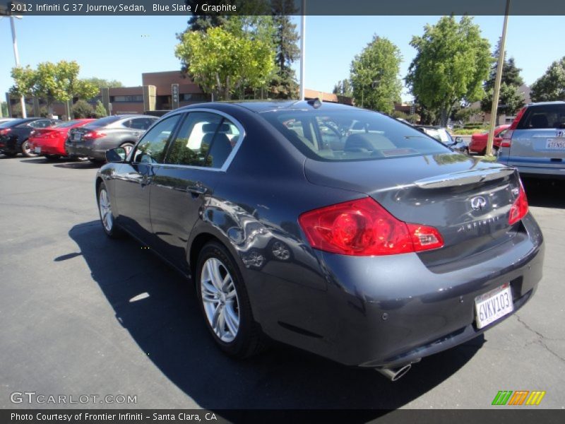
{"label": "rear door side window of the dark Infiniti sedan", "polygon": [[239,129],[230,119],[192,112],[182,123],[166,163],[221,168],[238,140]]}

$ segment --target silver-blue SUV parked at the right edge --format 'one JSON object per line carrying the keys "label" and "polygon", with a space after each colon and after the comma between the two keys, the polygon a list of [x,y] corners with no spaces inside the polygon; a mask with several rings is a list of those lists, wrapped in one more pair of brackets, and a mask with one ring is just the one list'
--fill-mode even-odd
{"label": "silver-blue SUV parked at the right edge", "polygon": [[521,175],[565,177],[565,102],[530,103],[502,137],[498,161]]}

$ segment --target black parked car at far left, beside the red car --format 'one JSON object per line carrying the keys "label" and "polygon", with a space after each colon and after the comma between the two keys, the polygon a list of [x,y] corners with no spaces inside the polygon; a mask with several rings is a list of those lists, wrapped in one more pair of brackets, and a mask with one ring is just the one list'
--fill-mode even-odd
{"label": "black parked car at far left, beside the red car", "polygon": [[4,122],[0,124],[0,152],[6,156],[16,156],[18,153],[28,158],[37,156],[28,143],[31,131],[60,122],[59,119],[52,118],[23,118]]}

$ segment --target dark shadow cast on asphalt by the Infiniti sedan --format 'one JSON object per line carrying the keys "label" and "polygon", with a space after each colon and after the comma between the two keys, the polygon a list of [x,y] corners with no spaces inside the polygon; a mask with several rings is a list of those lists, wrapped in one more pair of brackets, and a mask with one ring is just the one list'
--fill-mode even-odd
{"label": "dark shadow cast on asphalt by the Infiniti sedan", "polygon": [[379,409],[403,406],[443,382],[484,343],[479,336],[424,358],[398,382],[278,344],[232,360],[208,334],[192,283],[147,248],[129,237],[109,240],[97,221],[75,225],[69,235],[133,341],[203,408],[362,408],[375,410],[365,418],[376,418]]}

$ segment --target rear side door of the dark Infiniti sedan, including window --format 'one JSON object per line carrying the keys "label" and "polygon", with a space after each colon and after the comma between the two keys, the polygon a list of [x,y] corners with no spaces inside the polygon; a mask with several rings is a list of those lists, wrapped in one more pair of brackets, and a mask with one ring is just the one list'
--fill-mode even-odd
{"label": "rear side door of the dark Infiniti sedan, including window", "polygon": [[186,270],[186,249],[199,213],[241,143],[242,126],[219,112],[190,112],[153,176],[150,213],[158,248]]}

